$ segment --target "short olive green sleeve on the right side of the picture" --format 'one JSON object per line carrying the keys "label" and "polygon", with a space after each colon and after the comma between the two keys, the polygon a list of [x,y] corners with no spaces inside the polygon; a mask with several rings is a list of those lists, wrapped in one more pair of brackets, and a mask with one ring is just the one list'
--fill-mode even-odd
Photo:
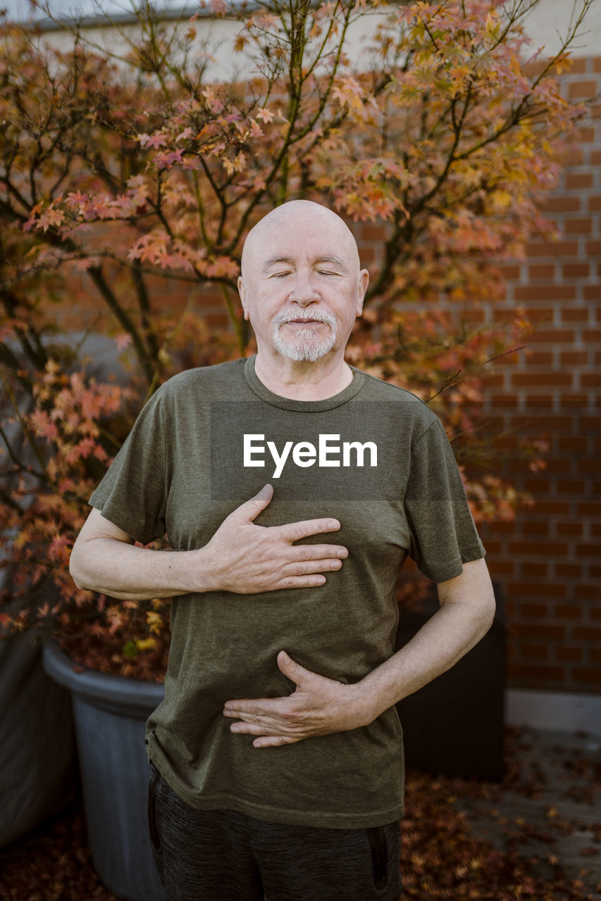
{"label": "short olive green sleeve on the right side of the picture", "polygon": [[404,503],[409,554],[425,576],[445,582],[461,575],[463,563],[485,556],[457,461],[438,419],[412,447]]}

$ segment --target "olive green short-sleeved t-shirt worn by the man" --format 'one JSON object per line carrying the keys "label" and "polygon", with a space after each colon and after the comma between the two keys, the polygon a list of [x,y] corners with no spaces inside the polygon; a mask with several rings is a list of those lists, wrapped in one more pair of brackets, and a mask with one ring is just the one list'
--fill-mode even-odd
{"label": "olive green short-sleeved t-shirt worn by the man", "polygon": [[144,406],[90,503],[136,541],[165,533],[175,551],[207,544],[237,506],[271,482],[255,522],[335,517],[348,558],[325,585],[173,599],[165,699],[148,753],[199,809],[357,829],[402,816],[402,729],[394,707],[374,723],[274,748],[230,732],[223,705],[288,695],[279,651],[354,683],[390,658],[395,585],[409,554],[436,582],[484,556],[448,439],[430,408],[353,369],[336,396],[273,395],[254,358],[191,369]]}

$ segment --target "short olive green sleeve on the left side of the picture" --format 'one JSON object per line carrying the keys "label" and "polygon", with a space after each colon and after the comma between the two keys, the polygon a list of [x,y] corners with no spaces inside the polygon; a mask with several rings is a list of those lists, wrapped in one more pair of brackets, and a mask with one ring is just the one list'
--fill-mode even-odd
{"label": "short olive green sleeve on the left side of the picture", "polygon": [[136,542],[165,533],[166,441],[159,389],[144,405],[89,503]]}

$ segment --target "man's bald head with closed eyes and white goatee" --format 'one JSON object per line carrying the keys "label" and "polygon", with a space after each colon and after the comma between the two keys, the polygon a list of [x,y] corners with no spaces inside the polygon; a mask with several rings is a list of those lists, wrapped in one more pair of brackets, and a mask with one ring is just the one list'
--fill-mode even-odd
{"label": "man's bald head with closed eyes and white goatee", "polygon": [[[282,212],[280,212],[282,211]],[[355,241],[325,207],[290,204],[251,235],[238,287],[258,350],[315,362],[347,344],[367,272]]]}

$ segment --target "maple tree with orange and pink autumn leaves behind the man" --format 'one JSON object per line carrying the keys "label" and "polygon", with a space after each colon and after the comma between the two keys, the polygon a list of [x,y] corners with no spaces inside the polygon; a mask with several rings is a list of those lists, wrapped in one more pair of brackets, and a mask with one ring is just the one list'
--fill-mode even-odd
{"label": "maple tree with orange and pink autumn leaves behind the man", "polygon": [[[4,23],[6,629],[64,631],[79,611],[91,617],[79,641],[97,648],[81,651],[86,660],[152,675],[165,605],[80,592],[69,549],[143,399],[182,366],[252,350],[236,292],[242,244],[261,215],[296,197],[384,225],[348,359],[436,405],[476,519],[513,515],[523,499],[475,467],[491,453],[476,425],[485,365],[528,323],[516,311],[513,322],[476,325],[468,305],[494,304],[499,263],[550,232],[541,198],[583,112],[562,98],[558,76],[591,2],[542,59],[522,30],[538,0],[269,0],[253,10],[216,0],[211,14],[239,23],[232,58],[245,75],[230,81],[211,74],[197,15],[176,26],[134,6],[118,57],[77,23],[69,52]],[[357,27],[359,52],[349,50]],[[97,298],[95,330],[127,350],[126,384],[95,379],[77,341],[57,333],[75,274]],[[154,296],[160,279],[218,287],[231,331],[166,308]]]}

